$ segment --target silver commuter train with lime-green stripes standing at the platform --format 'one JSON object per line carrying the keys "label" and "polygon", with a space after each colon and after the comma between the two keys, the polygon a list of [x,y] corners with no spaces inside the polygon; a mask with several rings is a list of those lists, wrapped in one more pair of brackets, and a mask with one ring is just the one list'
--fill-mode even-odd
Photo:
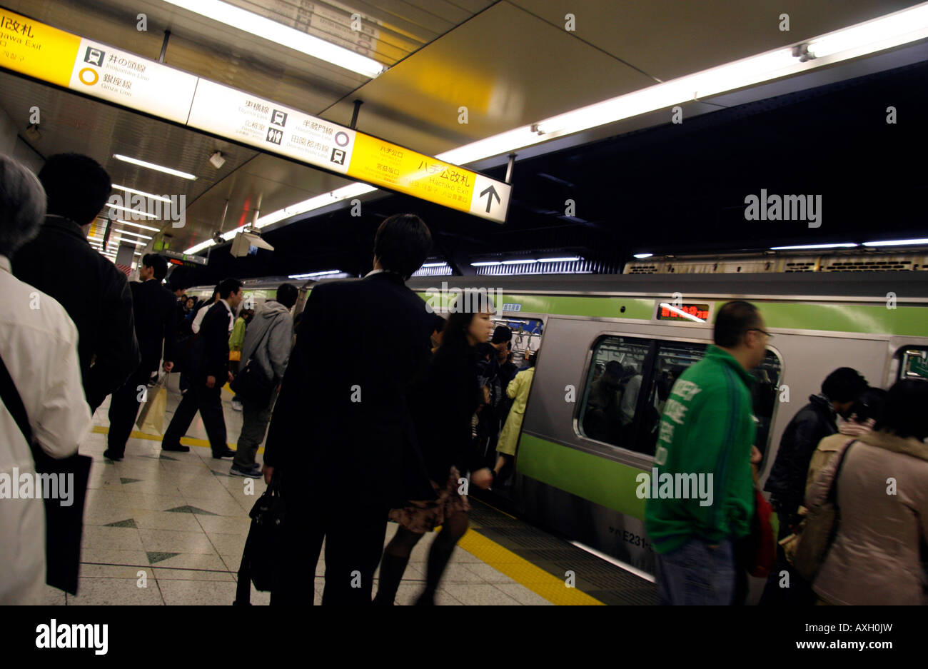
{"label": "silver commuter train with lime-green stripes standing at the platform", "polygon": [[[251,279],[247,288],[273,299],[283,280]],[[543,350],[510,508],[642,573],[654,572],[654,555],[636,477],[651,471],[665,392],[711,343],[721,304],[754,302],[774,335],[753,372],[762,484],[786,424],[834,368],[855,367],[883,388],[928,382],[928,272],[417,277],[407,285],[441,310],[443,282],[486,290],[496,320],[517,330],[515,348],[540,342]],[[303,286],[297,311],[313,285]],[[604,430],[587,401],[612,360],[634,367],[640,388],[618,409],[625,420]]]}

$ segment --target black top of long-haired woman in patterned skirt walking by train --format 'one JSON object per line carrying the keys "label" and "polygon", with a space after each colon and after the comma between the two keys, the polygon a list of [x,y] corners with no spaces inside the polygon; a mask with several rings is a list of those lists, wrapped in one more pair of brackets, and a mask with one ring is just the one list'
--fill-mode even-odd
{"label": "black top of long-haired woman in patterned skirt walking by train", "polygon": [[429,478],[444,487],[452,465],[462,475],[482,468],[470,427],[483,401],[476,352],[470,347],[453,353],[440,349],[412,396]]}

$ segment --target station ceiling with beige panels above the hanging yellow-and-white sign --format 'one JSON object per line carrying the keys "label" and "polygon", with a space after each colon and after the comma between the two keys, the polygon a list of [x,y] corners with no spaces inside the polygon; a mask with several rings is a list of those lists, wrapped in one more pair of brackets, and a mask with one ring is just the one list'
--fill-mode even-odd
{"label": "station ceiling with beige panels above the hanging yellow-and-white sign", "polygon": [[[354,100],[362,100],[358,130],[429,155],[917,4],[905,0],[651,0],[621,4],[612,0],[229,1],[269,19],[290,20],[290,25],[294,20],[304,21],[300,24],[304,30],[330,41],[343,40],[346,35],[332,21],[317,19],[334,13],[346,17],[356,11],[376,25],[368,55],[389,69],[367,79],[162,0],[0,0],[0,4],[151,59],[159,58],[164,31],[169,30],[164,54],[167,65],[346,125]],[[315,8],[316,20],[306,19],[308,7]],[[564,30],[568,12],[574,15],[572,32]],[[140,13],[147,17],[146,32],[136,30]],[[790,15],[789,32],[779,28],[783,13]],[[171,230],[172,248],[177,251],[210,238],[220,226],[225,231],[250,220],[259,200],[261,211],[271,212],[351,183],[6,72],[0,72],[0,89],[4,92],[0,106],[23,130],[28,125],[29,109],[35,105],[42,109],[39,138],[21,135],[42,156],[79,151],[101,162],[114,184],[149,193],[185,194],[187,226]],[[789,94],[789,81],[777,92]],[[699,109],[702,112],[740,102],[737,95],[729,97],[724,102],[692,104],[704,107]],[[466,124],[458,122],[461,106],[469,109]],[[601,141],[665,122],[662,116],[613,124],[588,139]],[[694,125],[692,132],[696,128]],[[741,135],[742,141],[746,136]],[[629,145],[631,153],[626,153],[626,158],[632,156],[632,146],[638,145]],[[543,167],[533,161],[533,174],[520,172],[517,162],[522,187],[516,183],[518,206],[510,209],[509,222],[514,225],[505,233],[518,238],[521,230],[546,225],[551,230],[564,225],[592,230],[612,225],[614,216],[604,212],[607,204],[596,194],[603,188],[608,192],[611,182],[605,171],[616,169],[615,156],[625,149],[608,142],[597,147],[598,152],[588,155],[577,151],[566,158],[563,153],[550,154]],[[663,149],[674,147],[664,140]],[[208,161],[215,150],[221,150],[226,158],[219,170]],[[644,149],[644,155],[653,155],[653,151]],[[183,180],[116,161],[114,153],[170,165],[199,178],[178,183]],[[683,174],[705,174],[700,161],[687,161],[679,151],[673,155],[675,160],[686,161],[683,170],[689,172]],[[500,171],[494,169],[494,175],[501,178]],[[627,165],[622,169],[628,174]],[[557,193],[560,198],[561,191],[570,191],[564,184],[579,185],[593,194],[586,198],[593,206],[584,215],[578,214],[579,223],[561,220],[559,212],[552,209],[553,200],[548,196]],[[644,192],[642,188],[644,185],[636,182],[636,188],[623,196],[623,204],[641,209],[644,205],[640,200],[637,205],[629,202],[636,192]],[[535,197],[537,193],[542,194],[540,199]],[[669,197],[668,193],[664,200]],[[401,196],[387,199],[390,201],[368,209],[371,213],[386,212],[418,204]],[[502,232],[495,224],[463,214],[420,208],[449,222],[445,243],[452,246],[480,248],[481,240],[491,232]],[[303,248],[310,255],[329,249],[327,243],[331,249],[351,239],[364,239],[364,245],[369,245],[370,221],[358,225],[363,229],[326,242],[313,235],[314,226],[309,221],[293,226],[288,237],[302,230]],[[522,236],[526,247],[533,244],[532,234]],[[559,239],[546,232],[535,245],[555,245]]]}

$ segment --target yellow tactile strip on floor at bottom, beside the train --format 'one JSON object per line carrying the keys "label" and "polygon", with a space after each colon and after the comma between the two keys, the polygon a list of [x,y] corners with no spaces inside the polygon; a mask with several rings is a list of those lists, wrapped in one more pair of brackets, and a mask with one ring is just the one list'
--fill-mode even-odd
{"label": "yellow tactile strip on floor at bottom, beside the train", "polygon": [[520,558],[511,550],[487,539],[483,534],[468,530],[458,541],[458,546],[476,558],[480,558],[497,572],[505,573],[516,583],[552,604],[561,606],[605,606],[599,599],[592,598],[575,587],[567,587],[564,580],[554,576],[541,567]]}

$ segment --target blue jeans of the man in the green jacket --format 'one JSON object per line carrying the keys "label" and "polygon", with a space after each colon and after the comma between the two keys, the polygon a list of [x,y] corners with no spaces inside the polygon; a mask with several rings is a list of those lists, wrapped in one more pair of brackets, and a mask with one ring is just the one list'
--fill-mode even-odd
{"label": "blue jeans of the man in the green jacket", "polygon": [[730,539],[715,547],[697,538],[657,555],[657,589],[662,604],[724,605],[735,594],[735,554]]}

